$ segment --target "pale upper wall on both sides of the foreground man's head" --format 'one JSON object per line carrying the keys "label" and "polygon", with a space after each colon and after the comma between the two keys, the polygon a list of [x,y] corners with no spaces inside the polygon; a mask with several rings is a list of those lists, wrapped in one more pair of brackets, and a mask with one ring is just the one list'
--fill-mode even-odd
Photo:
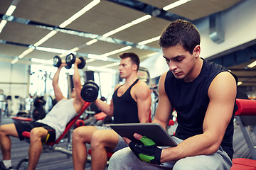
{"label": "pale upper wall on both sides of the foreground man's head", "polygon": [[[242,1],[233,8],[223,11],[225,41],[217,44],[209,37],[209,19],[202,18],[195,25],[201,34],[201,57],[208,58],[220,52],[256,39],[256,3],[255,0]],[[151,78],[159,77],[169,68],[162,54],[149,57],[142,62],[142,67],[149,69]]]}

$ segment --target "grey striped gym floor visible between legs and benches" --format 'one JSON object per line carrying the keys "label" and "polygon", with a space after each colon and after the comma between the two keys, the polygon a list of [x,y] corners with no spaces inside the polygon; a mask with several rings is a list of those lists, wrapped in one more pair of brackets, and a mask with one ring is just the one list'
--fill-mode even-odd
{"label": "grey striped gym floor visible between legs and benches", "polygon": [[[3,118],[1,120],[2,124],[13,123],[11,118]],[[175,130],[175,126],[169,128],[169,133],[172,134]],[[252,140],[255,141],[256,137],[252,133]],[[18,162],[26,158],[28,156],[28,142],[22,141],[20,142],[16,137],[11,137],[12,147],[11,147],[11,162],[14,166],[18,164]],[[58,147],[66,148],[66,139],[64,139],[63,143],[60,143]],[[252,159],[252,156],[247,148],[242,132],[240,131],[239,125],[235,123],[235,133],[233,138],[233,147],[234,147],[234,158],[249,158]],[[2,160],[2,156],[0,154],[0,160]],[[22,168],[20,168],[22,169]],[[50,153],[42,153],[39,159],[38,165],[36,167],[37,170],[72,170],[73,169],[73,160],[72,157],[67,157],[66,154],[62,154],[60,152],[50,152]],[[90,170],[90,162],[87,162],[85,170]],[[107,169],[107,167],[106,167]]]}

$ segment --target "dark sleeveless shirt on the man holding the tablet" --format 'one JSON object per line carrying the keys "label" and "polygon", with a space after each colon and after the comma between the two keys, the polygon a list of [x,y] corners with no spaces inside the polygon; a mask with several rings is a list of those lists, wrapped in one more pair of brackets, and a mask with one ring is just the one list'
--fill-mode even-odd
{"label": "dark sleeveless shirt on the man holding the tablet", "polygon": [[[220,72],[228,72],[225,67],[203,60],[203,67],[196,79],[184,82],[176,79],[170,71],[166,74],[164,83],[166,94],[171,105],[177,111],[178,127],[176,137],[186,140],[188,137],[203,133],[203,119],[209,104],[208,89],[210,83]],[[237,81],[237,77],[233,75]],[[227,152],[230,159],[233,158],[233,116],[225,131],[220,146]]]}

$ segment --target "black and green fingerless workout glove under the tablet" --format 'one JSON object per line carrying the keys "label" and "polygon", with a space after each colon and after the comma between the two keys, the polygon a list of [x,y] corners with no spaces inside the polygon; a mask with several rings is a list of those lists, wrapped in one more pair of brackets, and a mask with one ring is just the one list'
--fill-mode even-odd
{"label": "black and green fingerless workout glove under the tablet", "polygon": [[143,136],[140,141],[132,140],[129,142],[129,147],[137,158],[144,162],[149,162],[151,164],[161,164],[161,150],[153,140]]}

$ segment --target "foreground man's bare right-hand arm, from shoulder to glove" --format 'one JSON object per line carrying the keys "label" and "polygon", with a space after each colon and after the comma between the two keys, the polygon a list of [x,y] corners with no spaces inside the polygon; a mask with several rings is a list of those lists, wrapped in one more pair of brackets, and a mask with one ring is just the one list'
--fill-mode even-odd
{"label": "foreground man's bare right-hand arm, from shoulder to glove", "polygon": [[184,157],[215,153],[223,140],[225,130],[233,114],[236,82],[228,72],[222,72],[210,84],[210,103],[203,122],[203,134],[189,137],[177,147],[163,149],[161,162]]}

